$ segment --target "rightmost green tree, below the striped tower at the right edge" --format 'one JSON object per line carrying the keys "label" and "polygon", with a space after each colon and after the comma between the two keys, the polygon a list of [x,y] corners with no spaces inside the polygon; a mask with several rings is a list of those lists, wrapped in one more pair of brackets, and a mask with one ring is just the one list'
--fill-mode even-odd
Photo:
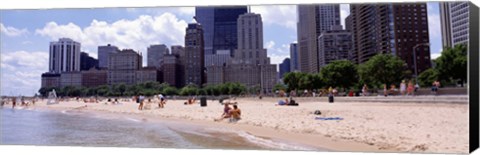
{"label": "rightmost green tree, below the striped tower at the right edge", "polygon": [[456,45],[446,48],[436,60],[436,69],[440,80],[459,81],[463,84],[467,81],[467,46]]}

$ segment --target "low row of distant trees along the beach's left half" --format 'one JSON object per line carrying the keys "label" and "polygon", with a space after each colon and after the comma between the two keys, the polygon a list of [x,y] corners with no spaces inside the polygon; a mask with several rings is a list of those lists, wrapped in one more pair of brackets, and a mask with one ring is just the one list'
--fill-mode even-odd
{"label": "low row of distant trees along the beach's left half", "polygon": [[48,92],[55,90],[57,96],[134,96],[145,95],[152,96],[156,94],[164,95],[240,95],[242,93],[257,93],[260,87],[247,87],[240,83],[224,83],[218,85],[206,85],[199,88],[195,85],[187,85],[183,88],[176,88],[167,83],[146,82],[135,85],[115,84],[101,85],[97,87],[65,86],[40,88],[38,91],[41,96],[47,97]]}

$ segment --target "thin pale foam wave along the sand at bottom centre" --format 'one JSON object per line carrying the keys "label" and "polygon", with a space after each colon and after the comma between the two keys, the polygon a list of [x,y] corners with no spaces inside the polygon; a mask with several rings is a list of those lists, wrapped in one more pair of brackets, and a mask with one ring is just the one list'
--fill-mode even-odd
{"label": "thin pale foam wave along the sand at bottom centre", "polygon": [[283,143],[283,142],[278,142],[278,141],[257,137],[245,131],[235,131],[235,130],[225,129],[225,128],[207,128],[207,130],[213,130],[213,131],[225,132],[225,133],[234,133],[253,144],[257,144],[259,146],[263,146],[271,149],[303,150],[303,151],[316,150],[314,148],[303,147],[296,144]]}

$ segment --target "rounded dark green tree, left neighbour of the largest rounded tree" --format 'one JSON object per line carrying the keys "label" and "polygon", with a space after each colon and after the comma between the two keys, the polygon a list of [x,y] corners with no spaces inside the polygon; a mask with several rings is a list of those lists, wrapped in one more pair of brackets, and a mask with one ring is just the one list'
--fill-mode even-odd
{"label": "rounded dark green tree, left neighbour of the largest rounded tree", "polygon": [[322,81],[327,87],[352,87],[358,82],[357,68],[348,60],[333,61],[320,70]]}

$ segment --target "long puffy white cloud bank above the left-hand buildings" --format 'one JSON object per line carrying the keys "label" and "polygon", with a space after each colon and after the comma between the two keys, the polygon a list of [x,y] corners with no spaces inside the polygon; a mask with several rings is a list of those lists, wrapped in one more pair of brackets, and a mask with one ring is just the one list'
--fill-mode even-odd
{"label": "long puffy white cloud bank above the left-hand buildings", "polygon": [[163,13],[158,16],[141,15],[134,20],[122,19],[113,23],[93,20],[84,28],[74,23],[58,25],[49,22],[42,29],[37,29],[36,34],[52,40],[71,38],[82,44],[83,51],[89,51],[90,55],[95,56],[97,47],[106,44],[141,52],[146,52],[151,44],[182,45],[186,27],[186,21],[178,19],[174,14]]}

